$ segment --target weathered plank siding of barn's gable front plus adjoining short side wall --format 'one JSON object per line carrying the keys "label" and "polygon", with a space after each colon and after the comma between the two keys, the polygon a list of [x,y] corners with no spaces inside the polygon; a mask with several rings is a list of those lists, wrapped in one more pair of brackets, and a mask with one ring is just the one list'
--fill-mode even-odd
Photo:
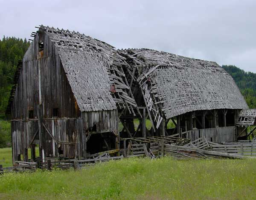
{"label": "weathered plank siding of barn's gable front plus adjoining short side wall", "polygon": [[[44,51],[39,51],[38,42],[44,42]],[[41,93],[41,94],[40,94]],[[96,125],[96,132],[113,132],[117,138],[117,110],[80,113],[67,76],[61,64],[58,50],[43,33],[36,35],[23,59],[23,67],[12,103],[12,148],[13,161],[26,154],[33,136],[38,130],[37,105],[43,105],[43,123],[56,142],[44,130],[44,155],[84,158],[86,137]],[[58,117],[53,109],[58,108]],[[33,119],[29,119],[33,110]],[[88,134],[87,134],[88,133]],[[34,143],[38,143],[38,136]]]}

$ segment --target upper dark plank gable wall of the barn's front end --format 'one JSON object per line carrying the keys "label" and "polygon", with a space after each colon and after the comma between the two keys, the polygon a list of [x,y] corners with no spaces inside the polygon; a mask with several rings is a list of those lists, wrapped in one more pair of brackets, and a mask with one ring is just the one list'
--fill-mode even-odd
{"label": "upper dark plank gable wall of the barn's front end", "polygon": [[[38,49],[39,40],[44,42],[44,51]],[[39,84],[44,118],[52,118],[53,108],[58,108],[59,117],[76,118],[80,115],[58,51],[44,33],[41,39],[39,34],[36,35],[23,58],[12,103],[12,119],[29,119],[29,110],[33,110],[34,116],[37,115]]]}

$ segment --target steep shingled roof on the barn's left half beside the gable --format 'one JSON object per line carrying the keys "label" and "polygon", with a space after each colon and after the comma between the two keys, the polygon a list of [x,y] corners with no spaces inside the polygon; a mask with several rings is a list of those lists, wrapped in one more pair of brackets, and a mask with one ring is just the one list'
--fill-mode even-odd
{"label": "steep shingled roof on the barn's left half beside the gable", "polygon": [[113,46],[75,31],[44,25],[39,31],[58,49],[81,112],[118,108],[134,114],[137,104],[122,71],[128,64]]}

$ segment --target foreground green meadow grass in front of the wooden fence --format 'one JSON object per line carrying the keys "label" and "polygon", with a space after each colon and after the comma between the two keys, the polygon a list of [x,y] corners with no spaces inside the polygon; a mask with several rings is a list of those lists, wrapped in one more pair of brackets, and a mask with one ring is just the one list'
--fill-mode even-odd
{"label": "foreground green meadow grass in front of the wooden fence", "polygon": [[251,200],[256,160],[124,159],[80,171],[5,174],[0,199]]}

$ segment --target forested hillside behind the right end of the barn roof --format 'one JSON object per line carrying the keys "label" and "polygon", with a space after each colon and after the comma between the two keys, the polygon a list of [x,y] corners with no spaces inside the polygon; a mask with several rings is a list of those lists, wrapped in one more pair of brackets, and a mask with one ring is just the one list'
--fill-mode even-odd
{"label": "forested hillside behind the right end of the barn roof", "polygon": [[222,65],[241,90],[248,106],[256,108],[256,73],[245,72],[234,65]]}

